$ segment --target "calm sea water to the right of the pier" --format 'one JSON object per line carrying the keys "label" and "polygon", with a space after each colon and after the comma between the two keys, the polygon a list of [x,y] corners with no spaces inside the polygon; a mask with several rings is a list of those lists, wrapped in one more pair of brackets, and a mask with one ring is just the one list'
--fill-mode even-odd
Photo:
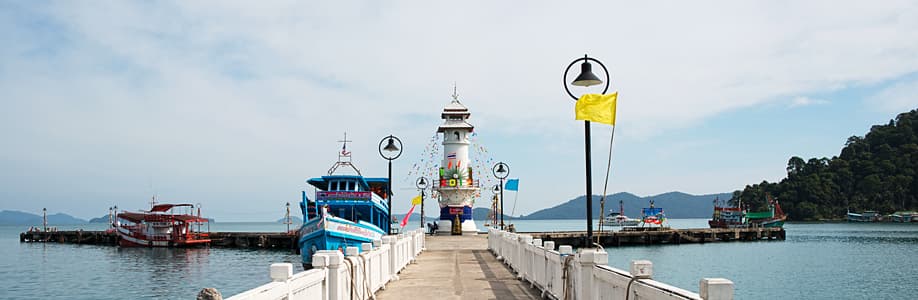
{"label": "calm sea water to the right of the pier", "polygon": [[[670,219],[706,228],[706,219]],[[594,221],[595,225],[596,221]],[[518,220],[517,231],[584,231],[585,220]],[[618,230],[617,227],[607,227]],[[653,279],[698,292],[702,278],[733,281],[736,299],[915,299],[918,223],[787,223],[784,241],[605,248],[609,265],[653,262]]]}

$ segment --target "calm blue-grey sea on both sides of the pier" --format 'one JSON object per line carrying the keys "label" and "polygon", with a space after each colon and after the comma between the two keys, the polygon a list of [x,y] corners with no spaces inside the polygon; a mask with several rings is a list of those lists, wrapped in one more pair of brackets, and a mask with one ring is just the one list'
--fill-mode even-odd
{"label": "calm blue-grey sea on both sides of the pier", "polygon": [[[669,220],[676,228],[706,220]],[[581,230],[582,220],[514,221],[519,231]],[[479,223],[480,224],[480,223]],[[81,226],[104,229],[104,224]],[[918,224],[787,224],[786,241],[607,248],[609,264],[654,263],[654,279],[698,291],[702,277],[736,284],[737,299],[906,299],[918,295]],[[71,227],[72,228],[72,227]],[[192,299],[267,283],[286,251],[122,249],[19,243],[23,226],[0,226],[0,299]],[[61,227],[61,229],[67,229]],[[284,231],[276,223],[216,223],[211,231]]]}

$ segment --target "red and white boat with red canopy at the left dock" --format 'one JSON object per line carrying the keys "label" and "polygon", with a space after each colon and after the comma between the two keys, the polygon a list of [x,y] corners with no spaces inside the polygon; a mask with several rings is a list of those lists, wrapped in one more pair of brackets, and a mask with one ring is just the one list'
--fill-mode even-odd
{"label": "red and white boat with red canopy at the left dock", "polygon": [[[115,227],[122,247],[189,247],[210,244],[210,224],[193,204],[155,204],[150,211],[121,212]],[[181,211],[185,211],[182,213]],[[207,225],[207,232],[201,227]]]}

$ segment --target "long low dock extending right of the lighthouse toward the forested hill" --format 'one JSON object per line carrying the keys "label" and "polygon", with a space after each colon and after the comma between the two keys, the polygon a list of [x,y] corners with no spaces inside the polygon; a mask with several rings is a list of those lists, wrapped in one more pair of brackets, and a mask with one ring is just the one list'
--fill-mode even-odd
{"label": "long low dock extending right of the lighthouse toward the forested hill", "polygon": [[[554,241],[557,245],[586,246],[586,232],[524,232],[534,239]],[[696,228],[622,230],[593,232],[603,247],[654,244],[689,244],[729,241],[784,240],[784,228]]]}

